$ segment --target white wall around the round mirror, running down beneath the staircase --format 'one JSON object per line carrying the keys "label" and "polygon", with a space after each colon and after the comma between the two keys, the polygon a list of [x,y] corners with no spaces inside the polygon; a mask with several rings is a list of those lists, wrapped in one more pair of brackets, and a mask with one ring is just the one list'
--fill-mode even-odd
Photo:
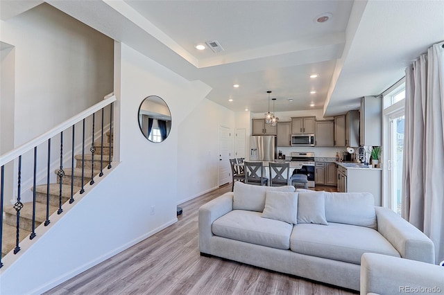
{"label": "white wall around the round mirror, running down beneath the staircase", "polygon": [[[115,109],[121,163],[92,190],[87,186],[89,193],[71,211],[54,217],[60,220],[20,251],[15,264],[0,269],[1,294],[44,292],[177,220],[178,149],[194,147],[189,140],[178,143],[179,126],[201,103],[217,116],[224,112],[206,106],[207,85],[189,82],[125,44],[119,51]],[[172,129],[162,143],[147,141],[139,129],[137,109],[149,95],[162,97],[171,109]],[[19,278],[26,280],[17,284]]]}

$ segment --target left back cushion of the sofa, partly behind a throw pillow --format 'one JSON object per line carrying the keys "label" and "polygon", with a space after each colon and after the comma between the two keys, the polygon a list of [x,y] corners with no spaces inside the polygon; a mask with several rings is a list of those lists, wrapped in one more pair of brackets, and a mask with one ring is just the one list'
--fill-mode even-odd
{"label": "left back cushion of the sofa, partly behind a throw pillow", "polygon": [[233,210],[264,211],[266,192],[269,190],[293,193],[295,188],[294,186],[254,186],[236,181],[233,190]]}

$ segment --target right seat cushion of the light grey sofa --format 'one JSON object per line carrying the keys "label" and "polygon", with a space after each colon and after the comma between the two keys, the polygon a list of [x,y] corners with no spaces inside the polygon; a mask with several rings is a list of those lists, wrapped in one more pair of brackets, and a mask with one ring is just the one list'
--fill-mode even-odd
{"label": "right seat cushion of the light grey sofa", "polygon": [[364,226],[330,222],[296,224],[290,238],[291,251],[359,265],[363,253],[400,257],[400,253],[380,233]]}

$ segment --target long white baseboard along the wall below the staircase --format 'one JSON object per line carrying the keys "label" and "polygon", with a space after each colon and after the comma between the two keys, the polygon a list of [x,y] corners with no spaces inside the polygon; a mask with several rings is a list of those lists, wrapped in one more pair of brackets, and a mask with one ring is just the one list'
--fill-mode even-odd
{"label": "long white baseboard along the wall below the staircase", "polygon": [[90,262],[85,263],[84,265],[81,265],[80,267],[70,271],[69,273],[63,274],[62,276],[59,276],[55,280],[52,280],[49,283],[46,283],[40,287],[37,287],[36,289],[33,289],[30,294],[42,294],[53,287],[56,287],[60,285],[61,283],[65,282],[66,280],[69,280],[70,278],[74,278],[74,276],[77,276],[78,274],[81,274],[83,271],[86,271],[87,269],[90,269],[91,267],[94,267],[96,265],[99,265],[99,263],[107,260],[108,258],[111,258],[112,256],[116,255],[117,253],[120,253],[121,251],[124,251],[138,242],[142,242],[146,238],[151,237],[151,235],[154,235],[155,233],[158,233],[159,231],[162,231],[162,229],[166,229],[168,226],[175,224],[178,222],[177,218],[173,218],[173,220],[170,220],[169,222],[162,224],[161,226],[157,227],[156,229],[153,229],[153,231],[150,231],[149,233],[145,233],[144,235],[139,236],[138,238],[135,238],[134,240],[123,244],[121,247],[118,247],[112,251],[109,251],[108,253],[103,254],[103,256],[96,258],[95,260],[92,260]]}

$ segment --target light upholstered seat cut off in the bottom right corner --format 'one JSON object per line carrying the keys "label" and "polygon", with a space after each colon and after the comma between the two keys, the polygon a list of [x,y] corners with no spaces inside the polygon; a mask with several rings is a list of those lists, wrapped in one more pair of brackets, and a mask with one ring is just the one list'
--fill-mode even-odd
{"label": "light upholstered seat cut off in the bottom right corner", "polygon": [[375,253],[361,257],[361,295],[442,294],[444,267]]}

